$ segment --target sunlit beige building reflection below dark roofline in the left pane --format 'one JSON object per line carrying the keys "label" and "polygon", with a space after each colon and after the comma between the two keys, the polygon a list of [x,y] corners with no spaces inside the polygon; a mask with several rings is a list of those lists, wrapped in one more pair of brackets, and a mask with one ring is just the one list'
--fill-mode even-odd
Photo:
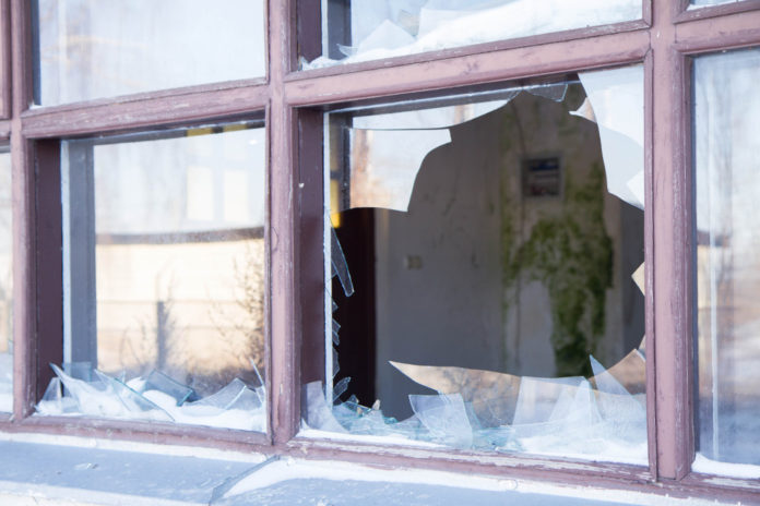
{"label": "sunlit beige building reflection below dark roofline in the left pane", "polygon": [[99,244],[96,257],[104,372],[155,368],[207,394],[203,378],[218,388],[263,364],[263,238]]}

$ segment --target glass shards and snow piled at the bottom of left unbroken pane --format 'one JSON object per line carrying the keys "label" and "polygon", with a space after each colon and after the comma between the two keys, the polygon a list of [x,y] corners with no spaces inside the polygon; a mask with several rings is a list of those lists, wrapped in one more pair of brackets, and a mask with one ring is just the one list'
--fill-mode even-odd
{"label": "glass shards and snow piled at the bottom of left unbroken pane", "polygon": [[[64,364],[64,369],[72,372],[69,365]],[[72,374],[55,364],[50,366],[56,376],[37,403],[40,415],[88,415],[266,431],[263,384],[249,386],[235,378],[221,390],[199,398],[191,387],[155,370],[146,377],[124,381],[84,363],[79,363]],[[253,363],[251,366],[256,368]]]}

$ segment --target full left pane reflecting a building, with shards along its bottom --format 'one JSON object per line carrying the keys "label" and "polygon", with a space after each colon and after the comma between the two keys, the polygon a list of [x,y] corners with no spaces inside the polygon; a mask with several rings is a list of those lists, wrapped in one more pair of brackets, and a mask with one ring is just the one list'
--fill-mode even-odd
{"label": "full left pane reflecting a building, with shards along its bottom", "polygon": [[264,129],[61,145],[63,363],[37,406],[264,431]]}

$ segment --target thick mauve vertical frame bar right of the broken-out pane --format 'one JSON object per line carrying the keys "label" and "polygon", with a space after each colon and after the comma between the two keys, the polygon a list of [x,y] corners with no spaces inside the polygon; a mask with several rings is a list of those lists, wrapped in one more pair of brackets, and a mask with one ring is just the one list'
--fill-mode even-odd
{"label": "thick mauve vertical frame bar right of the broken-out pane", "polygon": [[[691,167],[688,76],[674,44],[681,1],[655,2],[652,38],[654,402],[658,478],[680,480],[693,459]],[[649,291],[649,290],[648,290]],[[650,375],[652,373],[650,372]]]}

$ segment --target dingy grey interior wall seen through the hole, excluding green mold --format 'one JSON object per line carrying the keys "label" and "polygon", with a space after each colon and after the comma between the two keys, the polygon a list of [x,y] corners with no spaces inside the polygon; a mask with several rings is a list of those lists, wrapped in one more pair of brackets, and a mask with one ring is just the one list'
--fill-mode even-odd
{"label": "dingy grey interior wall seen through the hole, excluding green mold", "polygon": [[[557,374],[547,287],[525,273],[507,282],[503,252],[542,219],[572,212],[568,177],[583,185],[594,167],[603,170],[596,125],[569,115],[582,100],[578,85],[562,103],[522,93],[452,128],[451,143],[423,162],[408,213],[376,210],[376,390],[387,414],[411,414],[407,395],[425,393],[389,360]],[[547,156],[560,158],[562,194],[523,197],[523,160]],[[643,261],[643,213],[604,188],[611,278],[604,334],[589,351],[609,366],[643,336],[643,298],[630,278]]]}

